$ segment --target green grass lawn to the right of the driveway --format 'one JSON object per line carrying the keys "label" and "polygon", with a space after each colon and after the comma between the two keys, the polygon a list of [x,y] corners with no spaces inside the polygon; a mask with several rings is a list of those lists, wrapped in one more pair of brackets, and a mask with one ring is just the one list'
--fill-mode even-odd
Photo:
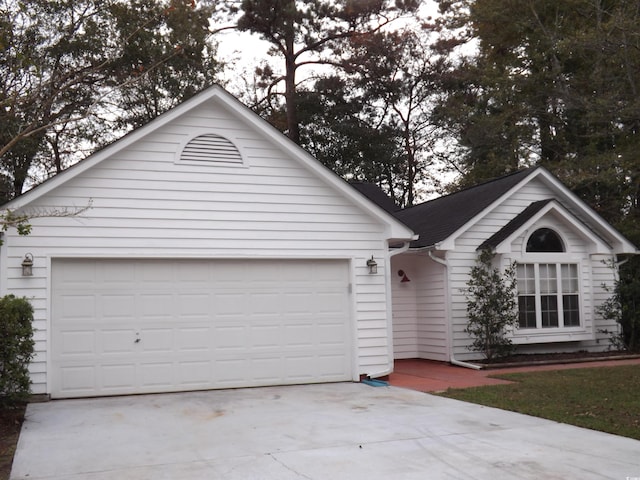
{"label": "green grass lawn to the right of the driveway", "polygon": [[640,440],[640,365],[496,375],[441,395]]}

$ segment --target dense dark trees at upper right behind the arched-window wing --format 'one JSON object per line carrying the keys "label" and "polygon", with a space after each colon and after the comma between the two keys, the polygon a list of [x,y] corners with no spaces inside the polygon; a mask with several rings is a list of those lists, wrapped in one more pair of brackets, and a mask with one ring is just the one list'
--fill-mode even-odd
{"label": "dense dark trees at upper right behind the arched-window wing", "polygon": [[441,1],[477,54],[441,77],[461,186],[540,164],[628,235],[640,228],[635,1]]}

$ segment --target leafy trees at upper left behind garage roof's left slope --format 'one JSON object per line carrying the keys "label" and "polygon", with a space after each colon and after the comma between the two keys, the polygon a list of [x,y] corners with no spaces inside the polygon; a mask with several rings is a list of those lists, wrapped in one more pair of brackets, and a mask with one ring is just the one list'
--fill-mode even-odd
{"label": "leafy trees at upper left behind garage roof's left slope", "polygon": [[4,199],[210,83],[209,18],[190,0],[2,0]]}

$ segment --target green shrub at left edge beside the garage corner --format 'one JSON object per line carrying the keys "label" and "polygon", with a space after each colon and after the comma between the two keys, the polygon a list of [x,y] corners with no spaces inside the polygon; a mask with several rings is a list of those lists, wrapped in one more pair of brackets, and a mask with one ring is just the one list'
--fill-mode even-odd
{"label": "green shrub at left edge beside the garage corner", "polygon": [[33,307],[26,298],[0,298],[0,405],[26,401],[33,358]]}

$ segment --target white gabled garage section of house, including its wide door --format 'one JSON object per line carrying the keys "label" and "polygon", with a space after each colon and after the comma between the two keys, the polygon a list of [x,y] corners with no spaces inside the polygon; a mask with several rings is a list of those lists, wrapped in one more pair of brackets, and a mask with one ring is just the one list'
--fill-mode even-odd
{"label": "white gabled garage section of house, including its wide door", "polygon": [[0,294],[35,309],[35,394],[391,371],[389,245],[417,237],[219,87],[4,208],[45,214],[0,247]]}

